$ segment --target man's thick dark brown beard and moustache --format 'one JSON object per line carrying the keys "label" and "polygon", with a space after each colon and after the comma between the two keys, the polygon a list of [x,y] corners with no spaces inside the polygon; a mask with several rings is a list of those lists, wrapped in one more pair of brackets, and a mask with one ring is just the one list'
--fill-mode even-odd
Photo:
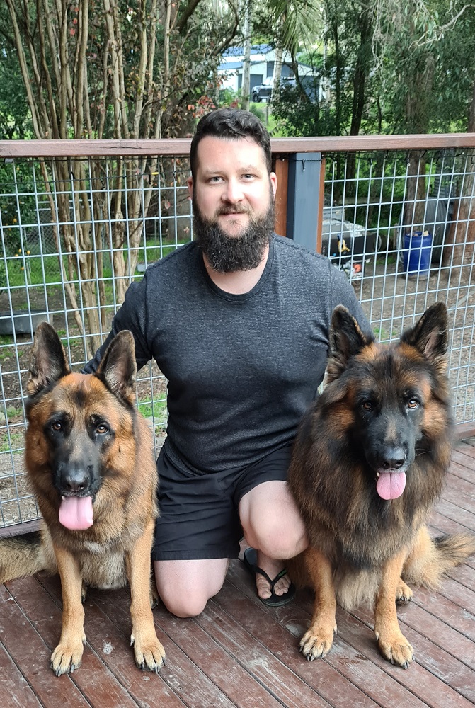
{"label": "man's thick dark brown beard and moustache", "polygon": [[[248,226],[236,236],[228,236],[219,226],[221,214],[244,212],[249,215]],[[235,273],[237,270],[252,270],[263,260],[270,236],[274,230],[275,207],[273,194],[267,212],[261,217],[253,216],[248,207],[221,207],[213,219],[205,219],[193,199],[193,224],[195,239],[205,254],[208,263],[219,273]]]}

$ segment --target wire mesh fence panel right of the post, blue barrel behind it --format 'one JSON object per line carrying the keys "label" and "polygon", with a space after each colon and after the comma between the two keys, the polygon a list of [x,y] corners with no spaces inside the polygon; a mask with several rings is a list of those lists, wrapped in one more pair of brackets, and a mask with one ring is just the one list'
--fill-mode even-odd
{"label": "wire mesh fence panel right of the post, blue barrel behind it", "polygon": [[468,151],[326,156],[322,251],[348,274],[379,341],[447,304],[457,423],[475,420],[474,185]]}

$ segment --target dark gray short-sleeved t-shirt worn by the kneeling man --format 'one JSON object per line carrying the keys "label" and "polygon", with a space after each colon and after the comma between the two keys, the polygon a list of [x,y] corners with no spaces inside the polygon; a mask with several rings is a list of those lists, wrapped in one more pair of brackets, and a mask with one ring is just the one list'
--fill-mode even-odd
{"label": "dark gray short-sleeved t-shirt worn by the kneeling man", "polygon": [[244,466],[294,438],[324,377],[337,304],[370,331],[345,275],[290,239],[273,236],[263,275],[244,295],[214,285],[192,242],[130,285],[84,370],[129,329],[137,367],[154,358],[168,379],[173,461],[196,472]]}

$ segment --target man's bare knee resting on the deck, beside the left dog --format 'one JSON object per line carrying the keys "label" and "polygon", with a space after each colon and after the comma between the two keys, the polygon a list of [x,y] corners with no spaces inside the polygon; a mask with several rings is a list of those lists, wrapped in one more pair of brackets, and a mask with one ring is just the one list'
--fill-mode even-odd
{"label": "man's bare knee resting on the deck, beside the left dog", "polygon": [[227,558],[154,561],[161,601],[177,617],[196,617],[221,590],[228,566]]}

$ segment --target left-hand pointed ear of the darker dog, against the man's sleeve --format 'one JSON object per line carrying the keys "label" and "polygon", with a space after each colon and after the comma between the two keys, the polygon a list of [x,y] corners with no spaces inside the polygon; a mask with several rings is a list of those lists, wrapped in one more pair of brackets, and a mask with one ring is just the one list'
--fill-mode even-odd
{"label": "left-hand pointed ear of the darker dog, against the man's sleeve", "polygon": [[353,356],[372,343],[374,338],[362,333],[360,325],[348,309],[338,305],[333,310],[329,333],[330,355],[326,367],[328,381],[340,376]]}

